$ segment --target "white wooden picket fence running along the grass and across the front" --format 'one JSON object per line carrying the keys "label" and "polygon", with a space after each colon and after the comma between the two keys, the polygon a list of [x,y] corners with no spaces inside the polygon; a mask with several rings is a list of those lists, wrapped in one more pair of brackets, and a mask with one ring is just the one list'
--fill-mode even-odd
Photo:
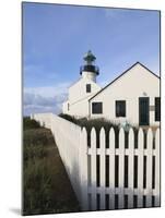
{"label": "white wooden picket fence running along the grass and across the front", "polygon": [[33,118],[51,130],[82,210],[160,206],[160,129],[139,129],[137,145],[130,129],[127,146],[120,129],[117,147],[115,130],[106,137],[102,128],[98,147],[94,128],[89,143],[84,128],[50,113]]}

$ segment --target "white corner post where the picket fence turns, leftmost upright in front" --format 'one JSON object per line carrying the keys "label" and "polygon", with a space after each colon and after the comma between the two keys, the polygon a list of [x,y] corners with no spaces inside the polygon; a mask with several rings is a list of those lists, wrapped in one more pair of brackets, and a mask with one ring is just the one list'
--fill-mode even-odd
{"label": "white corner post where the picket fence turns, leftmost upright in front", "polygon": [[87,133],[86,129],[83,128],[80,140],[80,179],[81,179],[81,199],[82,210],[89,209],[87,201]]}

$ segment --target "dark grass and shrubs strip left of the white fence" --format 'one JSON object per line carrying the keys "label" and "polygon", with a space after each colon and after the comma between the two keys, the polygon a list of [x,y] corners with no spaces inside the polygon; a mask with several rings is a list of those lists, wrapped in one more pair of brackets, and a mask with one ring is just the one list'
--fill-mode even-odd
{"label": "dark grass and shrubs strip left of the white fence", "polygon": [[80,211],[50,131],[23,124],[23,215]]}

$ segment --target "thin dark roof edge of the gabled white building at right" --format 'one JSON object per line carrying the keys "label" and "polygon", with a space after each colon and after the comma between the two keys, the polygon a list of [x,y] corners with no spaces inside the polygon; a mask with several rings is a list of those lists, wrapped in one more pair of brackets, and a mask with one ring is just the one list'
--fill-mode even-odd
{"label": "thin dark roof edge of the gabled white building at right", "polygon": [[135,62],[133,65],[131,65],[129,69],[127,69],[126,71],[123,71],[123,73],[121,73],[119,76],[117,76],[114,81],[111,81],[109,84],[107,84],[104,88],[102,88],[98,93],[96,93],[94,96],[92,96],[92,98],[89,99],[89,101],[91,99],[93,99],[95,96],[97,96],[99,93],[102,93],[104,89],[106,89],[108,86],[110,86],[113,83],[115,83],[116,81],[118,81],[122,75],[125,75],[126,73],[128,73],[128,71],[130,71],[132,68],[134,68],[137,64],[140,64],[142,68],[146,69],[152,75],[156,76],[160,80],[160,76],[156,75],[155,73],[153,73],[151,70],[149,70],[145,65],[143,65],[142,63],[140,63],[139,61]]}

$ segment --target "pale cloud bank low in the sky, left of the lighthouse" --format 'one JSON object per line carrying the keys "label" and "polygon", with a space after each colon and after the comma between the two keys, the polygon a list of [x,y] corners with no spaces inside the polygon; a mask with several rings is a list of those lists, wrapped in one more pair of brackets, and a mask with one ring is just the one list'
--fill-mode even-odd
{"label": "pale cloud bank low in the sky, left of the lighthouse", "polygon": [[47,86],[24,88],[24,116],[36,112],[61,112],[62,102],[68,96],[69,85],[70,83],[61,83],[55,87]]}

